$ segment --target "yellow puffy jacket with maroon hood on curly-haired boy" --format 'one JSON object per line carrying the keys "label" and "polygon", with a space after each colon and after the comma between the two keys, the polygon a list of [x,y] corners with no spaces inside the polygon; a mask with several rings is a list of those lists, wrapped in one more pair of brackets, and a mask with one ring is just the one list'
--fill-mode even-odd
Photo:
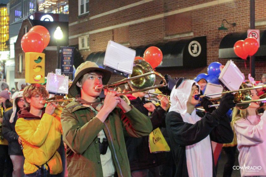
{"label": "yellow puffy jacket with maroon hood on curly-haired boy", "polygon": [[[50,174],[58,174],[63,170],[60,154],[57,152],[61,141],[62,126],[57,110],[53,115],[44,113],[36,117],[29,113],[30,108],[18,112],[15,130],[22,138],[23,154],[25,157],[24,173],[31,174],[38,170],[35,166],[47,163]],[[57,114],[56,114],[57,113]],[[45,169],[48,166],[45,164]]]}

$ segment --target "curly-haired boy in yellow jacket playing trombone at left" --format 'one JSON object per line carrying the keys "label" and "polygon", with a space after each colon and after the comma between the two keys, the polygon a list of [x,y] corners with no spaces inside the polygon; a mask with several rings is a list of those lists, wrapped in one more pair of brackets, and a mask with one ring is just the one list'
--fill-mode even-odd
{"label": "curly-haired boy in yellow jacket playing trombone at left", "polygon": [[22,139],[25,177],[59,174],[63,169],[57,151],[62,127],[57,104],[48,103],[44,109],[41,101],[48,93],[40,84],[26,86],[23,97],[27,107],[18,112],[15,130]]}

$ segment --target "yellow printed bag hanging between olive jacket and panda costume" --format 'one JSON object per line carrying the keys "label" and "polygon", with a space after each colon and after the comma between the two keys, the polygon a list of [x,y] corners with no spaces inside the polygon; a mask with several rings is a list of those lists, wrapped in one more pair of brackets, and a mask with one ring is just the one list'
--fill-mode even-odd
{"label": "yellow printed bag hanging between olive jacket and panda costume", "polygon": [[149,134],[149,148],[151,153],[170,151],[170,147],[159,128]]}

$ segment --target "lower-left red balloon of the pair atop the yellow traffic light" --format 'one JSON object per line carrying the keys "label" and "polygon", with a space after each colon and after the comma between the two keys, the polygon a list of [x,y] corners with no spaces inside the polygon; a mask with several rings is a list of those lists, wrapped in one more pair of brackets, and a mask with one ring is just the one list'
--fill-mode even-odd
{"label": "lower-left red balloon of the pair atop the yellow traffic light", "polygon": [[36,32],[27,32],[21,39],[21,48],[25,53],[41,53],[44,49],[44,42],[41,35]]}

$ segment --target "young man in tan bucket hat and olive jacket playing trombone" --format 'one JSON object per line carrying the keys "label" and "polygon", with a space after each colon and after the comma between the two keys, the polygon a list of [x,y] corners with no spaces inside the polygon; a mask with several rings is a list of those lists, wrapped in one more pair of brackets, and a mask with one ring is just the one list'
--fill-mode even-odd
{"label": "young man in tan bucket hat and olive jacket playing trombone", "polygon": [[104,101],[99,97],[96,87],[107,84],[111,74],[91,61],[75,72],[69,93],[80,98],[61,115],[69,176],[130,176],[124,136],[143,137],[152,131],[150,119],[116,91],[105,90]]}

